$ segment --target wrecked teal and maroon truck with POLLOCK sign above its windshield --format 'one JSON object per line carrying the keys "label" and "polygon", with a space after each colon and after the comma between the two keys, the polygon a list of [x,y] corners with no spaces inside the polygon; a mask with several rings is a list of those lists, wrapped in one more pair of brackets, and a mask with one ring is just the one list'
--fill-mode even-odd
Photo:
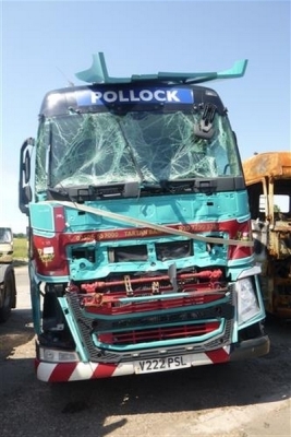
{"label": "wrecked teal and maroon truck with POLLOCK sign above its windshield", "polygon": [[49,92],[20,156],[36,374],[75,381],[269,351],[222,72],[109,76],[102,54]]}

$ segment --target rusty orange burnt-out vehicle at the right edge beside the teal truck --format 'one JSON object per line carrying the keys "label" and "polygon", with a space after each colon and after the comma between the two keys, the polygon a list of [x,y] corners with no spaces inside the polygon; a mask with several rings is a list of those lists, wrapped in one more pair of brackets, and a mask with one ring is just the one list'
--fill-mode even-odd
{"label": "rusty orange burnt-out vehicle at the right edge beside the teal truck", "polygon": [[243,170],[265,308],[291,318],[291,152],[255,154]]}

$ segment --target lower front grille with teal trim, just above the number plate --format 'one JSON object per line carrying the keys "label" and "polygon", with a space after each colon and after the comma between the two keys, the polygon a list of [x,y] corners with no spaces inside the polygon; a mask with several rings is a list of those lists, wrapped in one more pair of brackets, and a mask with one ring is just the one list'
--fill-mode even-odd
{"label": "lower front grille with teal trim, just above the number plate", "polygon": [[[157,349],[170,354],[210,351],[231,342],[234,307],[232,292],[210,306],[194,305],[157,314],[96,316],[80,305],[77,293],[66,294],[92,362],[119,363],[155,356]],[[209,336],[209,334],[211,334]],[[207,339],[206,339],[207,335]]]}

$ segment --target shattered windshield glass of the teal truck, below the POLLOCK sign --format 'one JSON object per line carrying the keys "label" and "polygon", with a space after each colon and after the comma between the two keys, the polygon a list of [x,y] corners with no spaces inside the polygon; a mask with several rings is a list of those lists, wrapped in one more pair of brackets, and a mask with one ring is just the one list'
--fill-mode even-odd
{"label": "shattered windshield glass of the teal truck, below the POLLOCK sign", "polygon": [[47,118],[38,132],[36,189],[124,181],[160,182],[240,176],[228,118],[195,134],[197,113],[87,113]]}

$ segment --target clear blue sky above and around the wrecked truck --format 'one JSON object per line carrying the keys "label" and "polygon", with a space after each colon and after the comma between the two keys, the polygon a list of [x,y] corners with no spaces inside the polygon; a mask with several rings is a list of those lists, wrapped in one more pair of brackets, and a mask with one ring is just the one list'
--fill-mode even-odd
{"label": "clear blue sky above and around the wrecked truck", "polygon": [[242,160],[290,151],[290,1],[1,1],[0,224],[24,233],[20,149],[36,137],[45,94],[105,54],[109,75],[222,71],[248,59],[244,78],[208,83],[229,110]]}

